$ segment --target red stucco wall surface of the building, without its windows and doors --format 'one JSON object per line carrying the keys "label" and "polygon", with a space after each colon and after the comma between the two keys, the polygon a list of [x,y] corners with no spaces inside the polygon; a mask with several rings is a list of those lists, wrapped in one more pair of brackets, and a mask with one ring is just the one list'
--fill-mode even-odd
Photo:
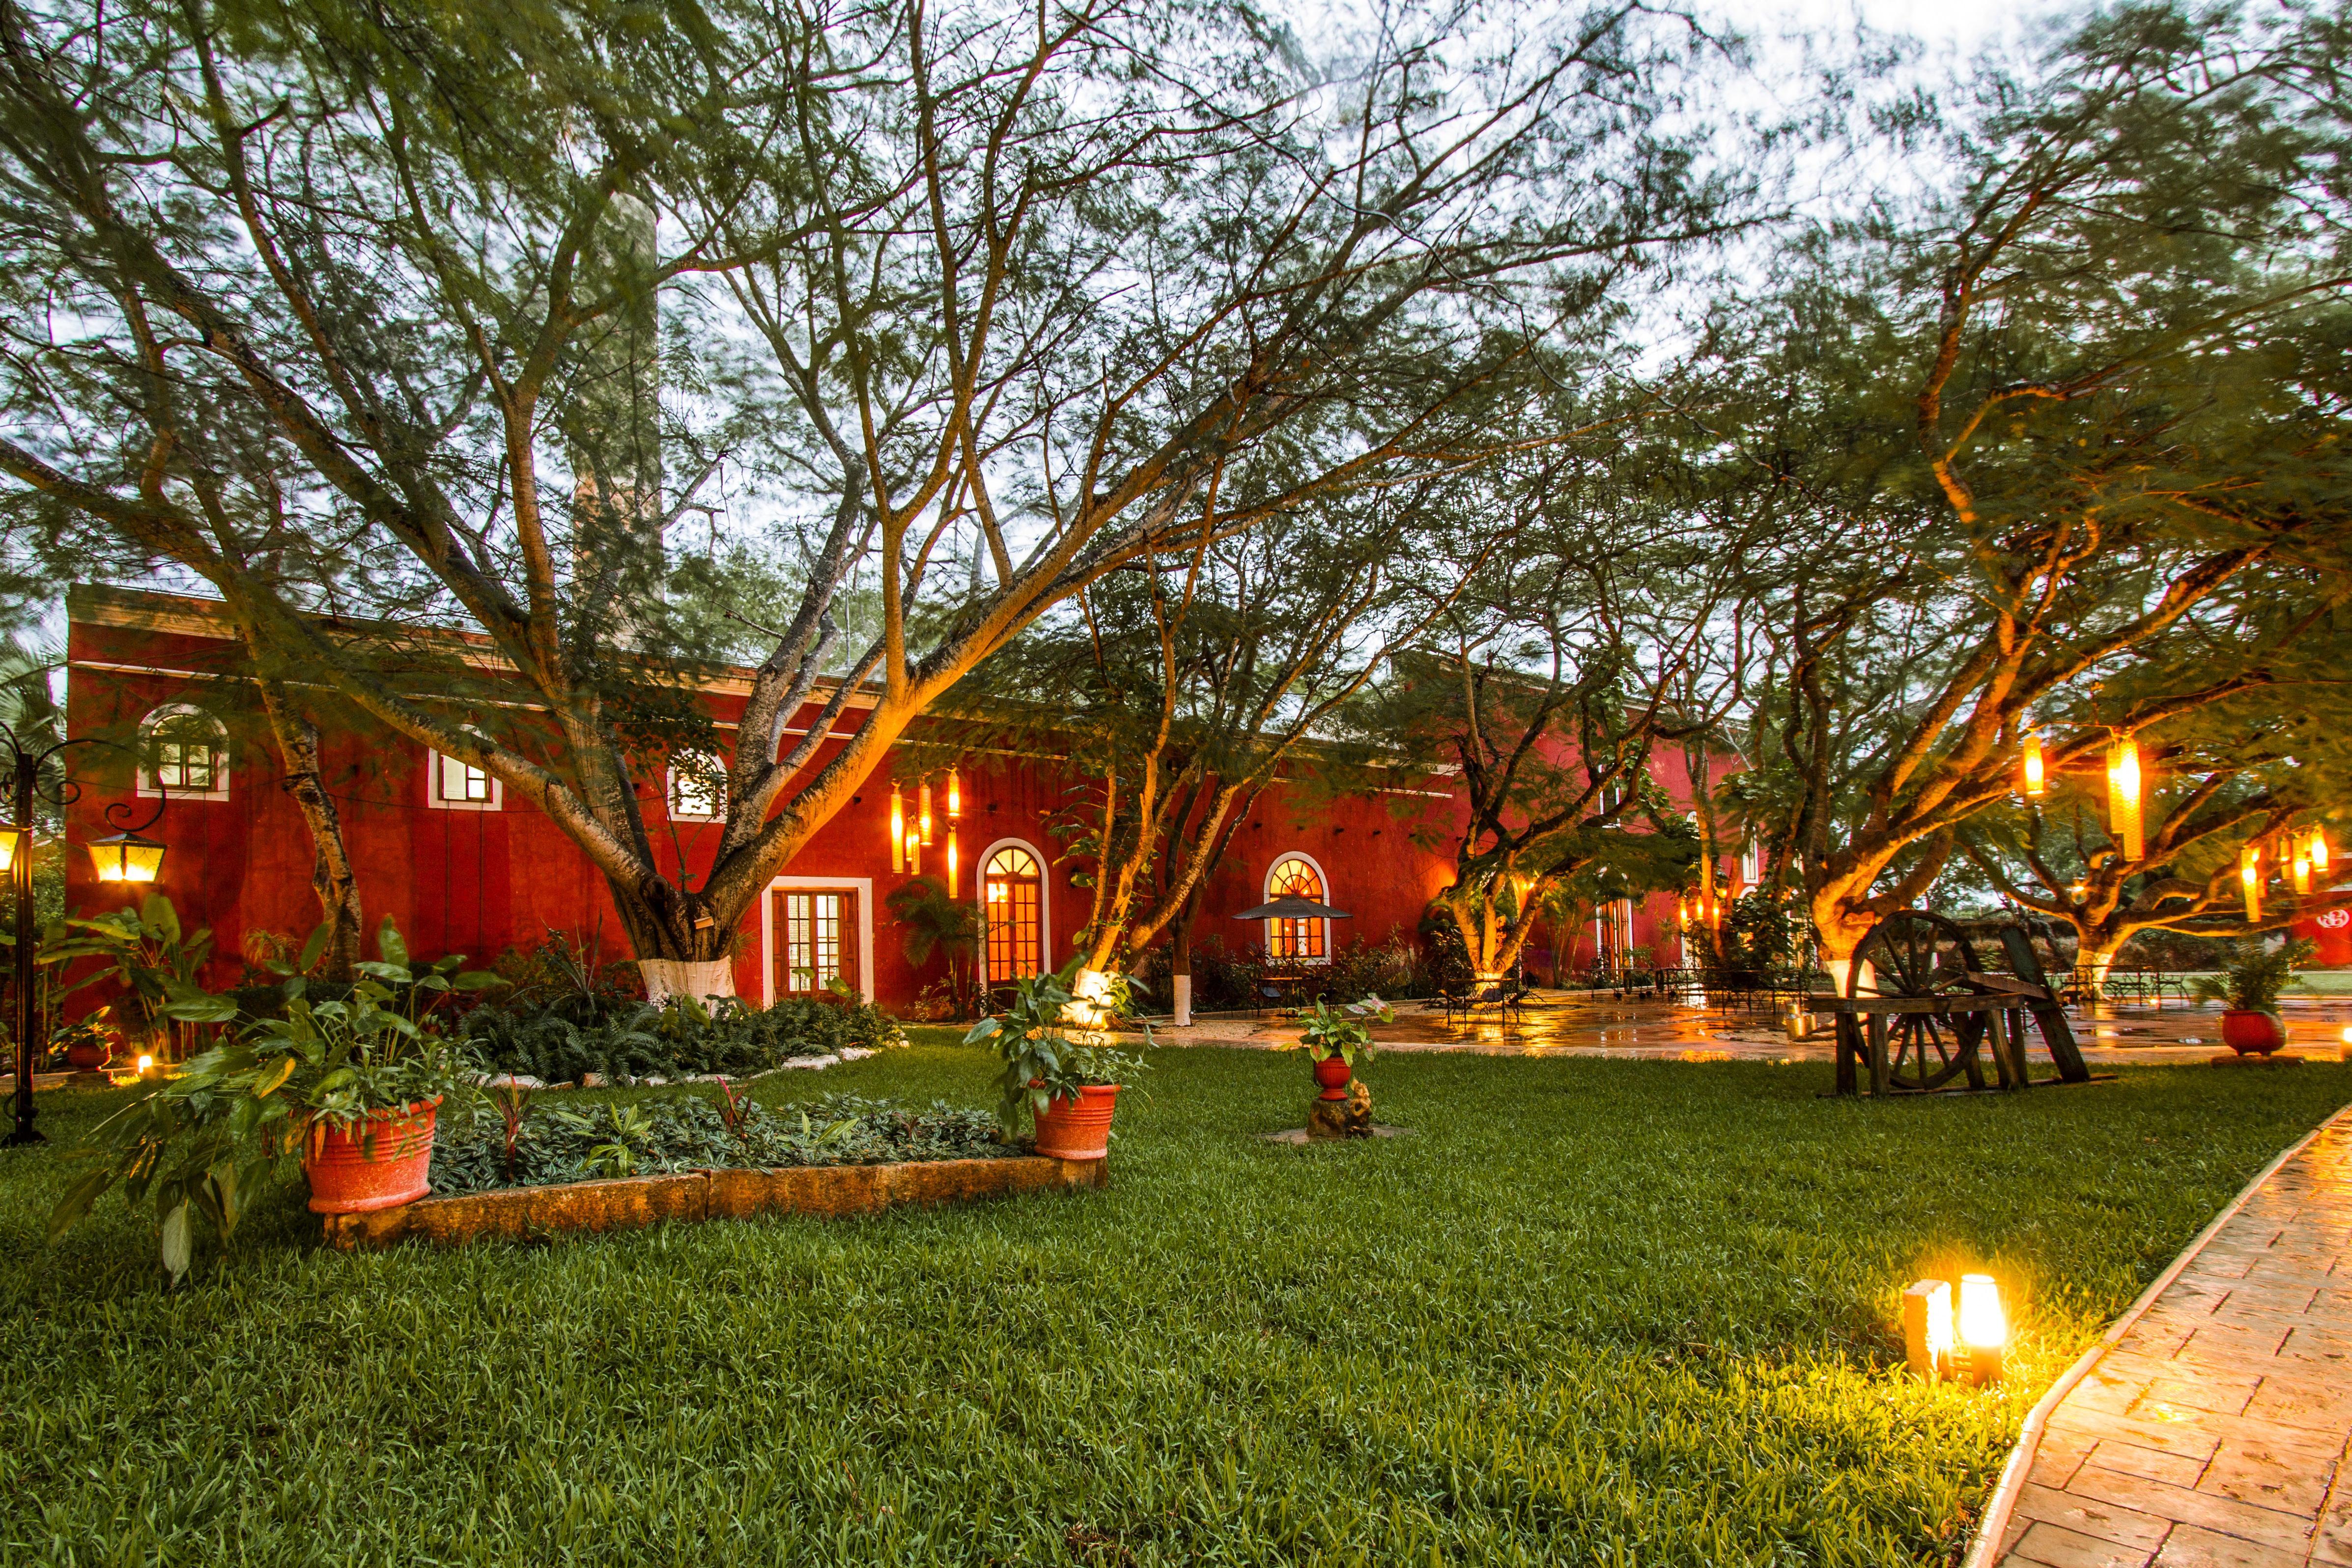
{"label": "red stucco wall surface of the building, without its windows and doors", "polygon": [[[155,614],[125,611],[127,599],[108,595],[113,609],[101,609],[96,618],[78,611],[71,625],[68,712],[75,736],[127,743],[139,719],[165,703],[252,715],[242,722],[230,717],[228,799],[176,797],[148,830],[169,844],[158,891],[179,905],[186,922],[214,929],[219,959],[212,980],[228,983],[242,971],[247,933],[270,931],[301,940],[318,924],[310,837],[285,795],[275,752],[266,745],[254,715],[252,689],[235,679],[242,668],[240,646],[226,635],[174,630],[179,623],[169,616],[165,625],[155,625]],[[188,599],[160,595],[139,599],[176,607],[181,618],[202,614],[202,607]],[[713,717],[722,722],[741,705],[724,691],[708,701]],[[814,708],[800,724],[811,719]],[[369,929],[388,914],[416,952],[466,952],[477,961],[506,947],[529,947],[548,931],[572,933],[581,943],[600,940],[609,957],[628,957],[602,877],[527,802],[508,799],[496,811],[430,806],[426,752],[358,717],[327,733],[322,764],[358,863]],[[82,846],[118,825],[106,820],[108,806],[132,811],[129,820],[139,820],[155,802],[132,797],[127,755],[85,748],[75,773],[85,795],[68,811],[73,844],[68,907],[87,912],[127,903],[136,891],[99,884]],[[1044,755],[976,757],[962,778],[957,893],[976,896],[974,867],[995,842],[1030,844],[1049,867],[1049,964],[1065,961],[1087,912],[1087,891],[1073,886],[1073,872],[1080,867],[1054,865],[1056,844],[1044,835],[1044,820],[1068,799],[1073,780]],[[1679,757],[1661,757],[1658,778],[1677,799],[1686,797]],[[913,785],[913,778],[908,783]],[[1355,914],[1334,929],[1334,943],[1378,943],[1392,931],[1411,936],[1428,900],[1451,882],[1451,835],[1461,823],[1458,804],[1432,785],[1442,780],[1399,780],[1395,790],[1341,799],[1270,788],[1237,830],[1232,851],[1211,882],[1209,919],[1200,936],[1216,931],[1228,950],[1261,940],[1258,926],[1232,922],[1230,914],[1263,900],[1265,875],[1284,853],[1312,858],[1324,872],[1327,898]],[[913,790],[908,809],[913,811]],[[708,865],[720,832],[715,823],[675,823],[673,851],[668,849],[673,825],[659,783],[644,788],[644,811],[656,842],[663,844],[668,867],[677,858],[696,870]],[[943,818],[946,802],[938,802],[938,811]],[[887,820],[889,776],[877,771],[783,870],[786,877],[870,884],[875,997],[884,1006],[910,1001],[938,971],[936,959],[922,973],[906,961],[901,938],[882,907],[882,900],[910,879],[889,870]],[[946,867],[943,830],[941,820],[938,844],[924,851],[924,870],[934,875]],[[1423,844],[1416,844],[1416,830]],[[1635,940],[1658,947],[1661,957],[1675,957],[1672,912],[1672,896],[1649,898],[1637,910]],[[1538,933],[1534,947],[1548,950],[1552,943],[1550,933]],[[1576,933],[1573,961],[1583,964],[1590,957],[1592,933],[1585,929]],[[764,973],[762,910],[753,907],[739,936],[739,990],[753,999],[762,997]]]}

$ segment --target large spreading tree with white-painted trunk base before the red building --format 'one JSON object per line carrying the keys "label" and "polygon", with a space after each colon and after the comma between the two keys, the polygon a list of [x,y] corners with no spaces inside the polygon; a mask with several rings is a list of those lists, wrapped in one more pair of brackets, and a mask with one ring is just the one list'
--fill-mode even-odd
{"label": "large spreading tree with white-painted trunk base before the red building", "polygon": [[[1230,531],[1475,456],[1531,341],[1724,223],[1658,132],[1679,24],[1484,21],[1399,12],[1317,80],[1254,12],[1162,5],[7,5],[38,329],[0,470],[546,811],[649,983],[708,990],[776,867],[1040,614],[1192,543],[1211,489]],[[774,418],[654,418],[656,371]],[[240,425],[285,510],[214,451]],[[800,597],[727,741],[659,583],[739,440],[800,508]],[[861,569],[880,635],[835,663]],[[727,755],[701,886],[640,804],[677,750]]]}

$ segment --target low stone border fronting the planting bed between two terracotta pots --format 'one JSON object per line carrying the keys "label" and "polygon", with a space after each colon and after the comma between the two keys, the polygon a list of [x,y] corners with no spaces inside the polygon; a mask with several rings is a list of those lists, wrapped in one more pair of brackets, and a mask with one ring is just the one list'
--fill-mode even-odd
{"label": "low stone border fronting the planting bed between two terracotta pots", "polygon": [[327,1215],[327,1244],[374,1251],[397,1241],[463,1246],[567,1229],[635,1229],[656,1220],[748,1220],[760,1213],[856,1215],[903,1204],[969,1204],[1018,1192],[1108,1187],[1105,1159],[920,1159],[894,1166],[783,1166],[767,1171],[680,1171],[560,1187],[501,1187],[400,1208]]}

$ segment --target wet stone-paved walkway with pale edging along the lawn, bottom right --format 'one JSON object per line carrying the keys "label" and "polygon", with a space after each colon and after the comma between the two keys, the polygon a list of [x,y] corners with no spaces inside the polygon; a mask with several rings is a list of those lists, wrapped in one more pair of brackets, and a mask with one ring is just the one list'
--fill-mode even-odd
{"label": "wet stone-paved walkway with pale edging along the lawn, bottom right", "polygon": [[2352,1563],[2352,1114],[2051,1410],[2016,1568]]}

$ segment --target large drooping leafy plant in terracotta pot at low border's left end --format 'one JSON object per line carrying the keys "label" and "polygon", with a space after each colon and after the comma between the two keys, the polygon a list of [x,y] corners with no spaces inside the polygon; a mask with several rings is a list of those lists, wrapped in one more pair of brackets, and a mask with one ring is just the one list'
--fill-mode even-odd
{"label": "large drooping leafy plant in terracotta pot at low border's left end", "polygon": [[[320,1213],[390,1208],[428,1192],[435,1114],[466,1081],[433,1013],[456,992],[506,980],[463,971],[461,957],[412,961],[386,919],[379,957],[355,966],[350,994],[313,1004],[303,971],[325,945],[320,926],[299,964],[273,964],[285,976],[282,1016],[256,1020],[99,1124],[85,1152],[96,1168],[49,1215],[52,1237],[115,1182],[134,1201],[153,1192],[162,1267],[176,1281],[198,1213],[226,1239],[252,1194],[294,1168],[310,1178]],[[226,997],[212,1001],[233,1011]]]}

